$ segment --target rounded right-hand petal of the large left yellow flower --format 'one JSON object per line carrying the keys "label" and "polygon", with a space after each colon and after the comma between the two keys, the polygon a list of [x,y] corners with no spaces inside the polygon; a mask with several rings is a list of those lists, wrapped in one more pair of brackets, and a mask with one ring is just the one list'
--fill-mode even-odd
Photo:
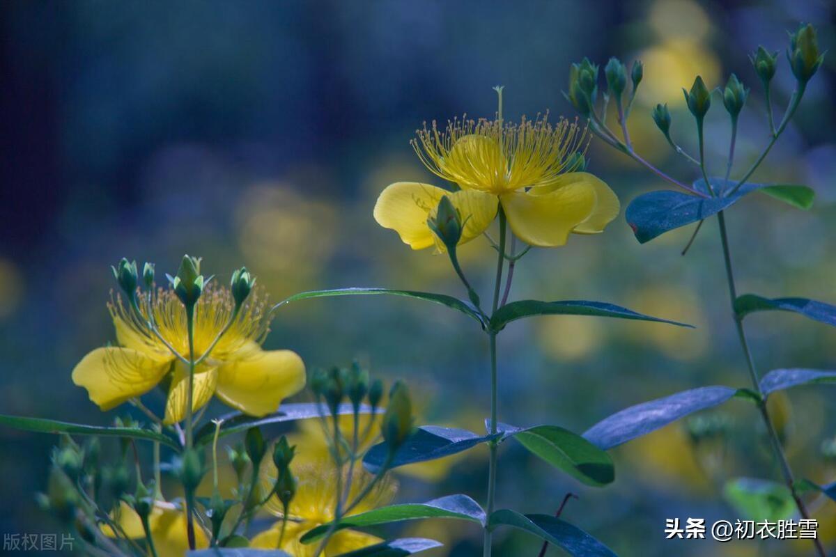
{"label": "rounded right-hand petal of the large left yellow flower", "polygon": [[276,412],[304,386],[305,364],[290,350],[249,352],[218,368],[217,397],[251,416]]}

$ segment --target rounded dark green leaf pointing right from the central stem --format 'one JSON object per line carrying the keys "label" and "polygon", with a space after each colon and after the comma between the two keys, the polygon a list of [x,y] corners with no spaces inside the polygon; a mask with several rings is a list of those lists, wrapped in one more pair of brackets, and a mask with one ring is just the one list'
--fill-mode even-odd
{"label": "rounded dark green leaf pointing right from the central stem", "polygon": [[523,447],[579,482],[599,487],[615,479],[609,454],[568,429],[549,425],[526,429],[504,424],[497,427],[502,428],[504,437],[516,438]]}

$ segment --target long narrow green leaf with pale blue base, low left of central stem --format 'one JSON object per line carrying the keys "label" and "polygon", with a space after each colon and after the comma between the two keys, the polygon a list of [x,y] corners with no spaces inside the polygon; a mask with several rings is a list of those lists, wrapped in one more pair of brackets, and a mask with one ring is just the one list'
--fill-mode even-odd
{"label": "long narrow green leaf with pale blue base, low left of central stem", "polygon": [[[426,503],[392,504],[365,513],[354,514],[340,521],[334,531],[347,528],[367,528],[379,524],[390,524],[403,520],[415,519],[461,519],[477,524],[485,524],[485,511],[467,495],[448,495]],[[321,539],[332,524],[322,524],[309,530],[300,540],[310,544]]]}

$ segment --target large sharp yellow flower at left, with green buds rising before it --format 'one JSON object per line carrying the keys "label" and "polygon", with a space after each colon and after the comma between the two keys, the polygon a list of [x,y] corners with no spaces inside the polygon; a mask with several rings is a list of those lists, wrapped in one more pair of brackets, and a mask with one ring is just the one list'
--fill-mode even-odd
{"label": "large sharp yellow flower at left, with green buds rising before it", "polygon": [[[186,311],[171,290],[139,294],[143,318],[156,323],[160,335],[177,352],[189,355]],[[150,391],[169,379],[166,423],[186,416],[189,371],[165,343],[148,331],[145,323],[120,297],[109,304],[119,347],[89,352],[73,370],[73,382],[84,387],[99,408],[110,410]],[[234,301],[226,288],[209,286],[195,307],[195,358],[201,357],[232,316]],[[192,410],[217,394],[224,403],[243,413],[263,416],[278,409],[284,398],[302,390],[305,368],[289,350],[263,351],[268,333],[268,306],[256,291],[247,298],[232,327],[195,370]]]}

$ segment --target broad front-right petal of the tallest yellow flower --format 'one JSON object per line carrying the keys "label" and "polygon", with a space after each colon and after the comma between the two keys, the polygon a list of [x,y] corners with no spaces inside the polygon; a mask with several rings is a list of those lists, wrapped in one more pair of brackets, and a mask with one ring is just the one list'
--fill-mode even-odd
{"label": "broad front-right petal of the tallest yellow flower", "polygon": [[592,215],[597,195],[593,185],[578,181],[545,195],[516,192],[500,200],[517,238],[532,246],[556,247]]}

